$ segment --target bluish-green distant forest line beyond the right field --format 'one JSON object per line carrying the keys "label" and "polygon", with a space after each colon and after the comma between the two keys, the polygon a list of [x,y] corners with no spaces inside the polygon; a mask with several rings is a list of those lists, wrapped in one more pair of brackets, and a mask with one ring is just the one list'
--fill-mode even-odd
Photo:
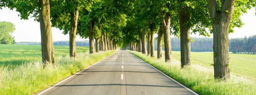
{"label": "bluish-green distant forest line beyond the right field", "polygon": [[[191,37],[191,52],[213,52],[213,38]],[[155,40],[155,49],[157,40]],[[171,38],[171,51],[181,51],[180,38]],[[165,50],[163,48],[163,50]],[[229,39],[229,52],[234,54],[256,54],[256,35],[249,38]]]}

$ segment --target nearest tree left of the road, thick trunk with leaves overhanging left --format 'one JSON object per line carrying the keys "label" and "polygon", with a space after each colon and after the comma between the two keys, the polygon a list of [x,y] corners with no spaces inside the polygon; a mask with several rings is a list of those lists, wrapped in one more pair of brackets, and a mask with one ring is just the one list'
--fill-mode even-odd
{"label": "nearest tree left of the road, thick trunk with leaves overhanging left", "polygon": [[33,14],[31,17],[35,17],[35,21],[40,22],[43,67],[48,63],[55,66],[49,0],[30,0],[30,2],[27,0],[10,0],[7,6],[11,9],[16,8],[21,19],[28,19],[30,14]]}

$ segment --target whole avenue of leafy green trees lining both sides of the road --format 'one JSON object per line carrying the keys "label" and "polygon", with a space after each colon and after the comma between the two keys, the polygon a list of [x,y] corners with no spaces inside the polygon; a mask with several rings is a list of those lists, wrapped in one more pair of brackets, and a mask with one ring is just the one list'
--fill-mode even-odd
{"label": "whole avenue of leafy green trees lining both sides of the road", "polygon": [[[51,27],[69,34],[70,57],[76,57],[75,37],[89,38],[90,53],[128,47],[171,62],[170,35],[180,37],[181,67],[191,64],[190,33],[213,33],[214,78],[229,79],[229,38],[242,27],[240,16],[255,0],[7,0],[1,7],[16,9],[21,19],[40,22],[42,62],[55,66]],[[190,31],[192,30],[192,31]],[[94,39],[96,47],[94,48]],[[147,51],[146,51],[146,43]]]}

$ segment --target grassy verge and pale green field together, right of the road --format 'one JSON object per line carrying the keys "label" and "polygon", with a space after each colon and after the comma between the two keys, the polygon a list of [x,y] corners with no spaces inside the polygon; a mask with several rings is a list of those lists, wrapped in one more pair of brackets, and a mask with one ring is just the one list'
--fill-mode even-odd
{"label": "grassy verge and pale green field together, right of the road", "polygon": [[[214,79],[213,67],[210,65],[213,63],[213,55],[211,52],[191,52],[193,57],[192,65],[183,69],[181,69],[180,52],[177,51],[172,51],[173,60],[169,63],[166,63],[163,58],[157,59],[156,57],[152,58],[141,52],[130,52],[202,95],[255,95],[256,93],[255,73],[243,75],[248,71],[250,71],[249,73],[255,71],[255,68],[252,68],[253,66],[255,67],[255,61],[253,61],[255,60],[254,55],[241,55],[240,57],[240,55],[230,54],[230,57],[232,57],[231,60],[233,60],[231,64],[238,68],[241,65],[243,70],[238,69],[238,71],[236,71],[235,66],[230,66],[230,68],[233,69],[230,79],[224,81]],[[245,69],[246,65],[240,63],[243,62],[243,59],[245,62],[252,61],[254,65],[251,63],[247,65],[248,69]],[[242,61],[239,62],[239,60]],[[250,70],[250,68],[252,69]]]}

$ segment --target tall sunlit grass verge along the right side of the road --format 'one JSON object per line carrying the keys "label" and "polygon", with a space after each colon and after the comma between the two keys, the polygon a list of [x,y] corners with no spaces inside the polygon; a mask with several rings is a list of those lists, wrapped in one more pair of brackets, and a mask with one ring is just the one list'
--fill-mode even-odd
{"label": "tall sunlit grass verge along the right side of the road", "polygon": [[202,95],[254,95],[256,93],[255,79],[231,74],[228,81],[216,81],[213,68],[192,64],[190,67],[181,69],[181,63],[178,60],[165,63],[164,59],[147,57],[141,52],[130,52]]}

